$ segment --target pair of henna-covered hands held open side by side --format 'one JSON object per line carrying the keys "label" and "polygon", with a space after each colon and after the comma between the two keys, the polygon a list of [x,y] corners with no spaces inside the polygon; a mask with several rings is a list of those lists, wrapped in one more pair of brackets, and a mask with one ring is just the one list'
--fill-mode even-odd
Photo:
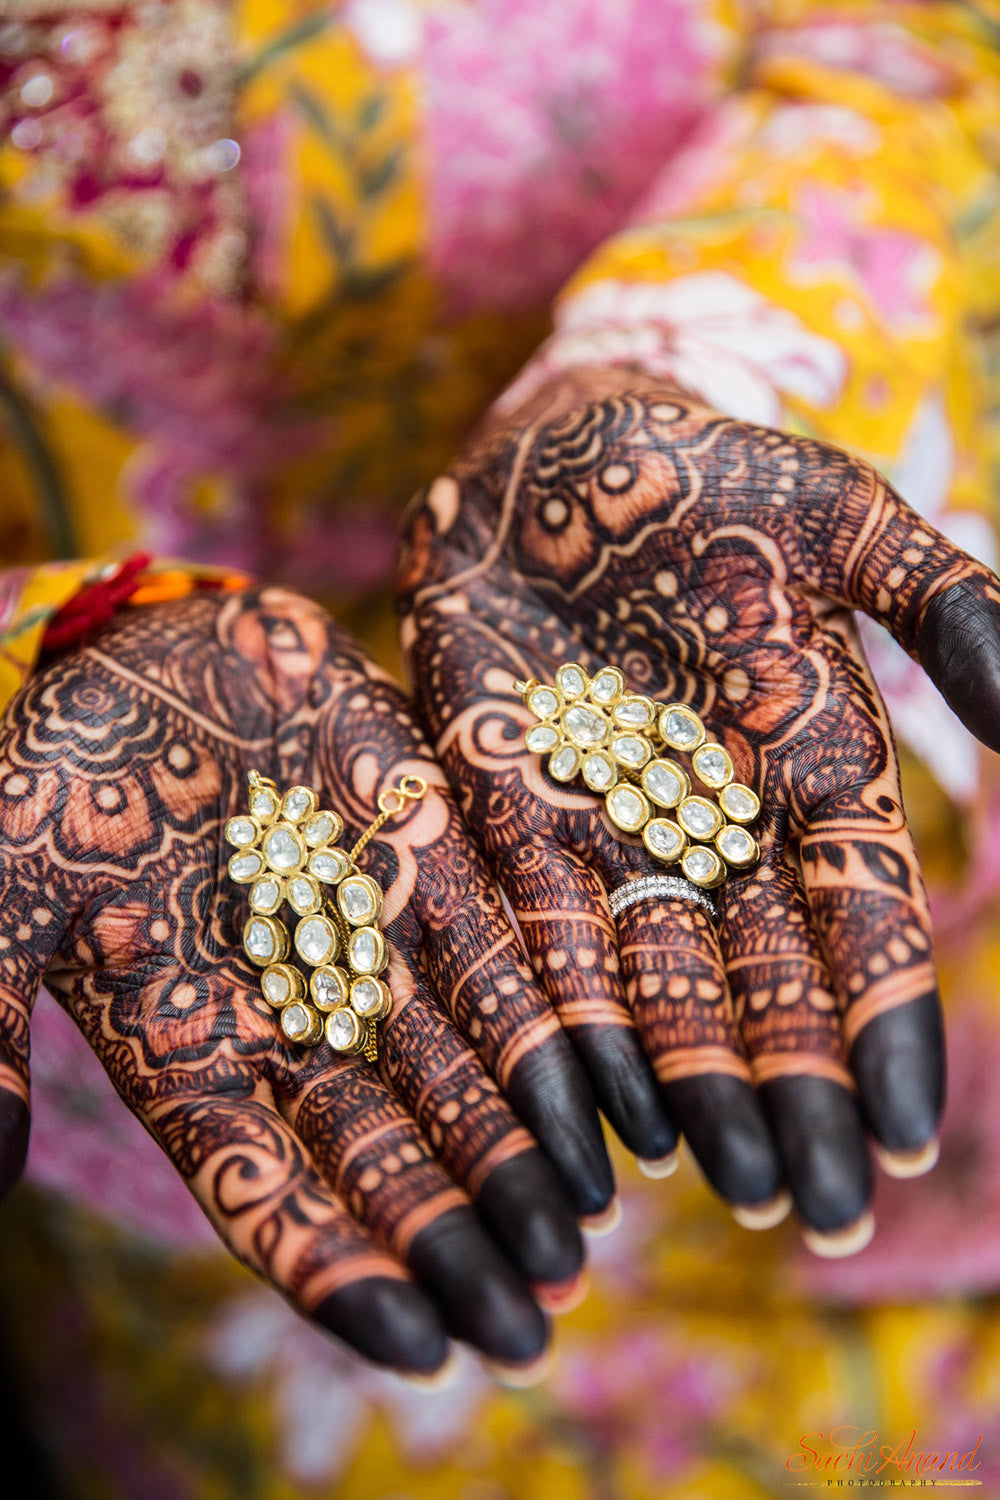
{"label": "pair of henna-covered hands held open side by side", "polygon": [[[933,1137],[927,904],[850,608],[991,742],[1000,592],[865,465],[609,372],[489,429],[408,531],[403,639],[447,780],[400,690],[276,590],[126,612],[9,706],[0,1164],[24,1156],[45,978],[297,1306],[405,1370],[448,1335],[517,1365],[612,1200],[598,1106],[649,1161],[684,1131],[751,1216],[787,1182],[819,1232],[864,1214],[865,1130]],[[760,790],[762,861],[718,933],[681,903],[612,921],[648,856],[523,748],[511,687],[570,658],[690,702]],[[378,1068],[289,1047],[241,954],[222,828],[252,768],[322,788],[355,837],[400,774],[432,783],[364,855],[391,945]]]}

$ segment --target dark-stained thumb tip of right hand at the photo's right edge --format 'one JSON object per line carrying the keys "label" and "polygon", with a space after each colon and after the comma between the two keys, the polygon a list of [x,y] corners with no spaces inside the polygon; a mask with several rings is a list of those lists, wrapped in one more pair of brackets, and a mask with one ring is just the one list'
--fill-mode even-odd
{"label": "dark-stained thumb tip of right hand at the photo's right edge", "polygon": [[924,610],[921,666],[978,740],[1000,750],[1000,608],[978,580],[952,584]]}

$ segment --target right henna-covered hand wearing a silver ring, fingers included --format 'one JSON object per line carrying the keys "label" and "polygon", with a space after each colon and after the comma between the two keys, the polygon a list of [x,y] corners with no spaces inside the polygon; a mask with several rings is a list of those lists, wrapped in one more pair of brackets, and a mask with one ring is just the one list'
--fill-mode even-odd
{"label": "right henna-covered hand wearing a silver ring, fingers included", "polygon": [[[654,1156],[676,1124],[730,1202],[784,1178],[810,1226],[850,1224],[865,1128],[906,1172],[943,1098],[927,898],[852,610],[996,748],[999,580],[864,462],[583,370],[418,496],[400,608],[438,753],[618,1132]],[[676,900],[612,921],[609,890],[664,867],[523,748],[513,690],[574,658],[694,706],[760,792],[762,860],[718,932]]]}

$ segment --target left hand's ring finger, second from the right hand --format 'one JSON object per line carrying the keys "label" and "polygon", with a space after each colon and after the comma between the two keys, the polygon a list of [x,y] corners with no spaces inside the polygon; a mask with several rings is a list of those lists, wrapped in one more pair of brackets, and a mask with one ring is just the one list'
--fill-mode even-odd
{"label": "left hand's ring finger, second from the right hand", "polygon": [[576,1276],[583,1263],[576,1216],[534,1140],[399,958],[390,986],[382,1076],[522,1276],[556,1287]]}

